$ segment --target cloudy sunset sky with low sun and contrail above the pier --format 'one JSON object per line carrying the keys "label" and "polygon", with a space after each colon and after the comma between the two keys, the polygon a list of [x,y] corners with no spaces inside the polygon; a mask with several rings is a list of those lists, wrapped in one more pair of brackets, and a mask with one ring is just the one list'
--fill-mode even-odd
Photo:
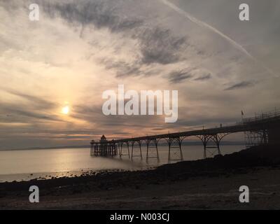
{"label": "cloudy sunset sky with low sun and contrail above the pier", "polygon": [[[279,17],[278,0],[0,0],[0,149],[216,127],[279,108]],[[178,90],[178,121],[104,116],[102,92],[120,84]]]}

